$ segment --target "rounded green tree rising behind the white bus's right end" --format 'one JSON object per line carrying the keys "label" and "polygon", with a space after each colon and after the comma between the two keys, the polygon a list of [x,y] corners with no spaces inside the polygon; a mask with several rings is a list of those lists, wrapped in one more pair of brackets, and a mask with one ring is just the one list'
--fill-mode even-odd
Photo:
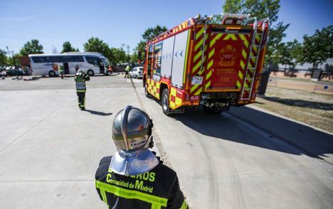
{"label": "rounded green tree rising behind the white bus's right end", "polygon": [[104,41],[100,40],[100,38],[89,38],[88,41],[83,44],[83,47],[86,52],[102,53],[109,60],[112,57],[109,45],[107,45],[107,43],[105,43]]}

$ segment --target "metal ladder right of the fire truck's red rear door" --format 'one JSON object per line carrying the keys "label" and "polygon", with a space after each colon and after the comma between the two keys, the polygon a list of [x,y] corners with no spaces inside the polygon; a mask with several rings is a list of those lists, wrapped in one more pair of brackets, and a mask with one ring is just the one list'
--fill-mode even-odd
{"label": "metal ladder right of the fire truck's red rear door", "polygon": [[[254,18],[254,23],[253,23],[253,36],[252,36],[252,40],[250,43],[250,53],[248,56],[248,62],[247,62],[247,67],[246,67],[246,71],[245,71],[245,79],[244,79],[244,83],[243,83],[243,87],[242,87],[242,91],[241,91],[241,95],[240,95],[240,100],[250,100],[252,92],[253,92],[253,85],[254,85],[254,81],[255,81],[255,74],[257,73],[258,70],[258,63],[259,63],[259,57],[260,57],[260,51],[264,45],[264,33],[265,33],[265,26],[266,26],[266,22],[268,21],[268,19],[263,19],[260,20],[260,22],[258,23],[256,18]],[[261,23],[261,28],[258,28],[258,24]],[[260,31],[260,33],[258,33],[258,30]],[[256,42],[257,37],[259,37],[258,42]],[[255,50],[255,48],[257,50]],[[254,53],[254,52],[257,53]],[[249,65],[250,62],[253,62],[254,65]],[[245,92],[248,92],[248,94],[245,94]]]}

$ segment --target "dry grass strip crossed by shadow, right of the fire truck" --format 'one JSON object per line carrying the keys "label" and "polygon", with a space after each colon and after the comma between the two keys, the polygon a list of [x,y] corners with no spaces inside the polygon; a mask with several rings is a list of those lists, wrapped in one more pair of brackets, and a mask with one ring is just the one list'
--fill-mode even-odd
{"label": "dry grass strip crossed by shadow, right of the fire truck", "polygon": [[255,106],[333,133],[333,96],[268,86]]}

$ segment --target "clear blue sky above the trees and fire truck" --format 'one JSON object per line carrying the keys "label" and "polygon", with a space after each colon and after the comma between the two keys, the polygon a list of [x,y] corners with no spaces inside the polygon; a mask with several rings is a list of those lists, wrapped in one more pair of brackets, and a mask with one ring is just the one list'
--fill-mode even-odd
{"label": "clear blue sky above the trees and fire truck", "polygon": [[[94,36],[110,47],[132,48],[148,27],[171,28],[196,14],[221,14],[218,0],[0,0],[0,48],[18,53],[26,41],[38,39],[44,53],[62,50],[64,41],[83,51]],[[332,0],[282,0],[280,21],[290,23],[285,41],[333,24]]]}

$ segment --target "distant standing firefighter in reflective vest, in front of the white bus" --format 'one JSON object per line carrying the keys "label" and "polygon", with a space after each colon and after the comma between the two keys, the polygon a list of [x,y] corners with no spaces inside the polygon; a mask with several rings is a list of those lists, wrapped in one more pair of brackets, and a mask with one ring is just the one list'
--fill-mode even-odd
{"label": "distant standing firefighter in reflective vest, in front of the white bus", "polygon": [[87,90],[85,87],[85,81],[90,80],[90,77],[88,74],[85,74],[80,70],[78,66],[75,70],[77,73],[75,74],[74,80],[76,83],[76,94],[78,95],[78,105],[81,110],[85,110],[85,90]]}

